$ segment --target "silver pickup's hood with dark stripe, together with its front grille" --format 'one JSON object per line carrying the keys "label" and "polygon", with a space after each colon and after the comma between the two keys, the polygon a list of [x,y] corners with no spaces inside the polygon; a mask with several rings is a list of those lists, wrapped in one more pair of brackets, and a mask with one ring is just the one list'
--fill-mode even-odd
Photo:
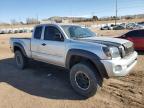
{"label": "silver pickup's hood with dark stripe, together with its front grille", "polygon": [[108,47],[117,47],[120,51],[121,57],[128,56],[134,52],[133,43],[118,38],[108,38],[108,37],[90,37],[90,38],[81,38],[79,41],[88,42],[88,43],[97,43],[105,45]]}

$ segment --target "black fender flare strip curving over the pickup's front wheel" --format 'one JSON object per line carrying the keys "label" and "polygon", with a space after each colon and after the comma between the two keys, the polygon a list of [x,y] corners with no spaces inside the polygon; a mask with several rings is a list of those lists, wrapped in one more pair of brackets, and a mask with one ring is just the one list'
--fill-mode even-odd
{"label": "black fender flare strip curving over the pickup's front wheel", "polygon": [[105,66],[100,61],[101,59],[96,54],[86,51],[86,50],[81,50],[81,49],[69,50],[66,56],[66,63],[65,63],[65,66],[67,69],[70,69],[70,60],[72,56],[80,56],[80,57],[84,57],[84,58],[91,60],[94,63],[95,67],[98,69],[100,75],[102,77],[108,78],[108,74],[105,69]]}

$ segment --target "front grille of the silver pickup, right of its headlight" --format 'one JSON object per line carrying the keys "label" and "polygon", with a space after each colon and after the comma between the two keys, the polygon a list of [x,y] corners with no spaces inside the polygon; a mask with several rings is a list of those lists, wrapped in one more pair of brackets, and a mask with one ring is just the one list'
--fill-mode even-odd
{"label": "front grille of the silver pickup, right of its headlight", "polygon": [[128,56],[134,52],[134,47],[132,42],[127,42],[124,45],[125,56]]}

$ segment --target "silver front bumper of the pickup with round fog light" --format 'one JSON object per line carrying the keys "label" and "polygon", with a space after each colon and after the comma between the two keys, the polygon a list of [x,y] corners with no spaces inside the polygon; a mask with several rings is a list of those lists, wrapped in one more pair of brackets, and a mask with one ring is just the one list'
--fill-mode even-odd
{"label": "silver front bumper of the pickup with round fog light", "polygon": [[104,64],[109,77],[126,76],[136,65],[137,56],[137,52],[134,52],[123,59],[101,60],[101,62]]}

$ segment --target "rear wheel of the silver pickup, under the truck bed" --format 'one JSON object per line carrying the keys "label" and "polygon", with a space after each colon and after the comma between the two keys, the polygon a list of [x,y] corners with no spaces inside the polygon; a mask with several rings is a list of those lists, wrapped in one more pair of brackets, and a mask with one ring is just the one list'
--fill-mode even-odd
{"label": "rear wheel of the silver pickup, under the truck bed", "polygon": [[15,51],[15,61],[19,69],[24,69],[27,66],[28,59],[19,50]]}

